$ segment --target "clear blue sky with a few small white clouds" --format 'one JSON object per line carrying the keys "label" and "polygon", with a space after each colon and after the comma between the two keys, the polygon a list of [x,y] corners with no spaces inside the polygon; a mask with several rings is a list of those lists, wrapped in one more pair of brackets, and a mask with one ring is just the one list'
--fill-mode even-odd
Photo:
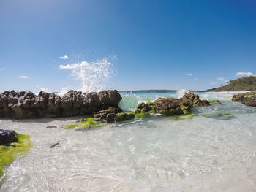
{"label": "clear blue sky with a few small white clouds", "polygon": [[256,74],[255,10],[253,0],[3,0],[0,91],[80,88],[59,66],[103,58],[110,88],[214,88]]}

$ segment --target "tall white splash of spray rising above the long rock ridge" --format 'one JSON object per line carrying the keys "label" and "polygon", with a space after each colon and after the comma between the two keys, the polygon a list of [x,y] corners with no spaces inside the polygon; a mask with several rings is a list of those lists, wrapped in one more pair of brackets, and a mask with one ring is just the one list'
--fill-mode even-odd
{"label": "tall white splash of spray rising above the long rock ridge", "polygon": [[89,93],[103,91],[108,88],[109,78],[113,74],[112,66],[108,59],[104,58],[91,63],[82,61],[66,66],[60,65],[59,68],[71,69],[71,76],[82,82],[82,87],[78,91]]}

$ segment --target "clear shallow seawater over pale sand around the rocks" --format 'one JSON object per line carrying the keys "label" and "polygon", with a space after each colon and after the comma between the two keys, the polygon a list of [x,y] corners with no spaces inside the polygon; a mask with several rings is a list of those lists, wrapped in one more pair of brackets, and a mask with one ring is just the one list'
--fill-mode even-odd
{"label": "clear shallow seawater over pale sand around the rocks", "polygon": [[[123,93],[121,107],[159,96],[176,94]],[[222,105],[185,120],[152,115],[84,131],[62,128],[78,118],[1,121],[34,147],[6,169],[0,191],[256,191],[256,109],[230,96],[200,93]],[[224,112],[233,117],[203,116]]]}

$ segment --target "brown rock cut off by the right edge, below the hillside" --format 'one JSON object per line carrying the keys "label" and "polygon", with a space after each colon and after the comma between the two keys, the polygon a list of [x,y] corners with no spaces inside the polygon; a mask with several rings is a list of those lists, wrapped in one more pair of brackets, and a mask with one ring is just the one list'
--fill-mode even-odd
{"label": "brown rock cut off by the right edge, below the hillside", "polygon": [[233,95],[232,101],[241,102],[251,107],[256,107],[256,92],[240,93]]}

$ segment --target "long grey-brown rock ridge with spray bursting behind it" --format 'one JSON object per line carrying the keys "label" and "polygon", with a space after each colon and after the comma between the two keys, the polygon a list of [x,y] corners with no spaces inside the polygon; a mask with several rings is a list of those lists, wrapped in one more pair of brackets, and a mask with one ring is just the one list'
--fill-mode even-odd
{"label": "long grey-brown rock ridge with spray bursting behind it", "polygon": [[5,91],[0,93],[0,118],[56,118],[86,115],[117,107],[121,95],[116,91],[82,93],[69,91],[64,96],[41,91]]}

